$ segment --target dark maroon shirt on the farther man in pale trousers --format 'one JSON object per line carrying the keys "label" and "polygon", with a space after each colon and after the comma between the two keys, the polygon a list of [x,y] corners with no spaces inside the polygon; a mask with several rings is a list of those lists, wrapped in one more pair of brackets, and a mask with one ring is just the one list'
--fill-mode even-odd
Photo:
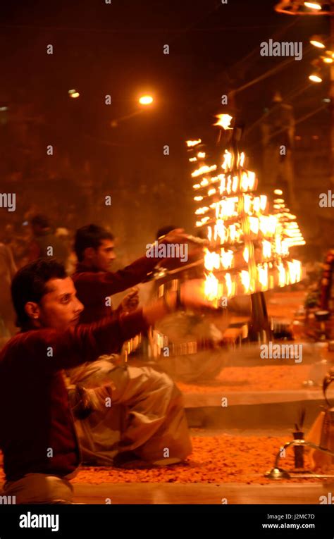
{"label": "dark maroon shirt on the farther man in pale trousers", "polygon": [[94,271],[94,269],[79,263],[72,278],[77,290],[78,299],[85,306],[80,321],[91,323],[106,316],[111,316],[111,307],[106,304],[106,297],[123,292],[138,283],[141,283],[150,273],[159,259],[142,258],[133,264],[116,271]]}

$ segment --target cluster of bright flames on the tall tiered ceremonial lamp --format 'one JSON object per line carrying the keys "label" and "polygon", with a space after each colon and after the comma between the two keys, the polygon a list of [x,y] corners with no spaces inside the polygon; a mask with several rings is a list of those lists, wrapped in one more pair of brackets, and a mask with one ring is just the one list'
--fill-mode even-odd
{"label": "cluster of bright flames on the tall tiered ceremonial lamp", "polygon": [[[232,118],[223,116],[228,115],[220,115],[215,125],[230,129]],[[282,191],[274,192],[270,213],[268,197],[256,194],[256,175],[247,170],[245,153],[225,149],[217,165],[206,159],[201,143],[187,141],[190,162],[197,163],[192,171],[197,179],[196,226],[209,240],[204,254],[206,297],[218,301],[297,283],[302,266],[290,258],[290,247],[305,242]]]}

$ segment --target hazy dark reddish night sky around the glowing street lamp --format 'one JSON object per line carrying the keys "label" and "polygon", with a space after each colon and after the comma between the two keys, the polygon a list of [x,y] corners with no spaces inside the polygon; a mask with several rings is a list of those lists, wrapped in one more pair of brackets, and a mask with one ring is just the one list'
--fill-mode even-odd
{"label": "hazy dark reddish night sky around the glowing street lamp", "polygon": [[[182,225],[191,231],[194,207],[185,140],[213,142],[214,115],[236,115],[245,124],[243,146],[261,190],[258,120],[275,90],[294,107],[296,134],[328,144],[330,114],[323,103],[328,82],[311,85],[307,78],[318,54],[309,47],[309,37],[328,35],[328,19],[281,15],[274,11],[276,3],[1,4],[0,106],[8,110],[0,112],[0,190],[17,194],[15,213],[0,209],[1,225],[19,228],[33,211],[48,213],[57,226],[109,225],[123,243],[124,260],[140,254],[160,226]],[[260,43],[269,38],[302,41],[302,61],[260,56]],[[53,55],[47,54],[47,44],[53,45]],[[164,44],[170,47],[168,55]],[[273,68],[278,70],[271,73]],[[71,88],[80,92],[78,99],[68,97]],[[221,105],[221,95],[232,89],[235,99]],[[136,99],[146,92],[154,95],[154,105],[112,127],[112,120],[138,110]],[[104,104],[106,94],[111,94],[111,106]],[[54,145],[54,156],[47,156],[47,144]],[[164,144],[169,156],[163,155]],[[302,182],[301,197],[306,188]],[[103,206],[106,194],[112,197],[109,209]],[[298,216],[302,221],[303,213]]]}

